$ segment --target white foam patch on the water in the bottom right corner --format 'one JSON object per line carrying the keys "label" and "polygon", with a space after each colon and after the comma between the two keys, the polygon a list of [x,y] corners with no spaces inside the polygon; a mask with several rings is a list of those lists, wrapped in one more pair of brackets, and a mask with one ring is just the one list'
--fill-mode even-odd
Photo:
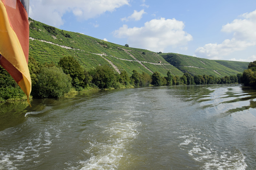
{"label": "white foam patch on the water in the bottom right corner", "polygon": [[[180,149],[188,150],[194,160],[204,164],[203,169],[241,169],[247,167],[245,156],[237,149],[223,149],[208,140],[196,137],[195,134],[181,136]],[[192,149],[191,149],[192,147]]]}

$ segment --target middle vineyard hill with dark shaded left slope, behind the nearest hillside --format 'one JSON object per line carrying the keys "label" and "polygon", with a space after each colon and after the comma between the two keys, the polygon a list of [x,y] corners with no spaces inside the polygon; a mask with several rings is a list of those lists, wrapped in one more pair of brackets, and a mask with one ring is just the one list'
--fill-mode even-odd
{"label": "middle vineyard hill with dark shaded left slope, behind the nearest hillside", "polygon": [[[162,53],[160,54],[168,63],[172,64],[176,68],[178,68],[182,72],[188,72],[192,75],[214,75],[218,77],[236,75],[237,73],[241,73],[241,70],[235,70],[235,67],[243,68],[244,63],[246,62],[238,62],[232,63],[230,61],[226,61],[226,63],[222,62],[222,64],[214,61],[208,60],[205,58],[198,58],[189,55],[181,55],[176,53]],[[240,63],[242,63],[240,65]],[[226,67],[229,65],[230,67]],[[235,65],[236,64],[236,65]],[[247,64],[248,65],[248,64]],[[233,69],[231,69],[233,68]]]}

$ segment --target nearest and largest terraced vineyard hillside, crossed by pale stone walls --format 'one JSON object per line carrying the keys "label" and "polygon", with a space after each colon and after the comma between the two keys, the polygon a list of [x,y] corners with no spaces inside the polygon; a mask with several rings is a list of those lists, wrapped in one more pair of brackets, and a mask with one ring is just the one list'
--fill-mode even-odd
{"label": "nearest and largest terraced vineyard hillside, crossed by pale stone walls", "polygon": [[149,74],[158,71],[163,76],[170,70],[173,75],[183,75],[155,52],[60,30],[30,18],[29,22],[29,56],[39,63],[57,63],[64,56],[74,56],[85,70],[107,64],[117,72],[126,70],[129,75],[132,75],[132,70]]}

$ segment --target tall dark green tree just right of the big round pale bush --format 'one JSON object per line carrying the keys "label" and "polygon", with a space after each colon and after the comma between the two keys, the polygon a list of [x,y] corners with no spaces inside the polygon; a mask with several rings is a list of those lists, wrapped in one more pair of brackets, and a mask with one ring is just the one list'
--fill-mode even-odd
{"label": "tall dark green tree just right of the big round pale bush", "polygon": [[72,85],[75,88],[84,87],[84,69],[73,56],[66,56],[60,59],[58,65],[65,74],[69,74],[72,78]]}

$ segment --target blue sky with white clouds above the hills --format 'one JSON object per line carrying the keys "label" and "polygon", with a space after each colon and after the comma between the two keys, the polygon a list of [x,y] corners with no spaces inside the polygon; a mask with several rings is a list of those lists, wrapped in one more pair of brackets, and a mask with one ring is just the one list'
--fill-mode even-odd
{"label": "blue sky with white clouds above the hills", "polygon": [[29,17],[154,52],[256,60],[255,0],[30,0]]}

